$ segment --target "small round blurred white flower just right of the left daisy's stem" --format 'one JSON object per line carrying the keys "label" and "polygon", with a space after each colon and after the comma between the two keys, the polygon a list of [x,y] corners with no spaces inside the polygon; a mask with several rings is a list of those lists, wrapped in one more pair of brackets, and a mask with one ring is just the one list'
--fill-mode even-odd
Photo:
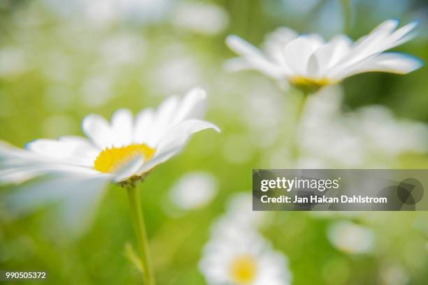
{"label": "small round blurred white flower just right of the left daisy's stem", "polygon": [[203,207],[217,194],[217,180],[210,173],[187,173],[173,185],[169,192],[172,202],[182,210]]}

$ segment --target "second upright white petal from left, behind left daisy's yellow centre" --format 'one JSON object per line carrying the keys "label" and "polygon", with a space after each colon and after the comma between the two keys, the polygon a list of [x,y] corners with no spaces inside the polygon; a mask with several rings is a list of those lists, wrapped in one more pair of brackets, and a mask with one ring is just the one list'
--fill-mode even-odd
{"label": "second upright white petal from left, behind left daisy's yellow centre", "polygon": [[130,145],[133,139],[133,117],[127,109],[117,110],[111,117],[111,131],[113,132],[113,145],[122,147]]}

